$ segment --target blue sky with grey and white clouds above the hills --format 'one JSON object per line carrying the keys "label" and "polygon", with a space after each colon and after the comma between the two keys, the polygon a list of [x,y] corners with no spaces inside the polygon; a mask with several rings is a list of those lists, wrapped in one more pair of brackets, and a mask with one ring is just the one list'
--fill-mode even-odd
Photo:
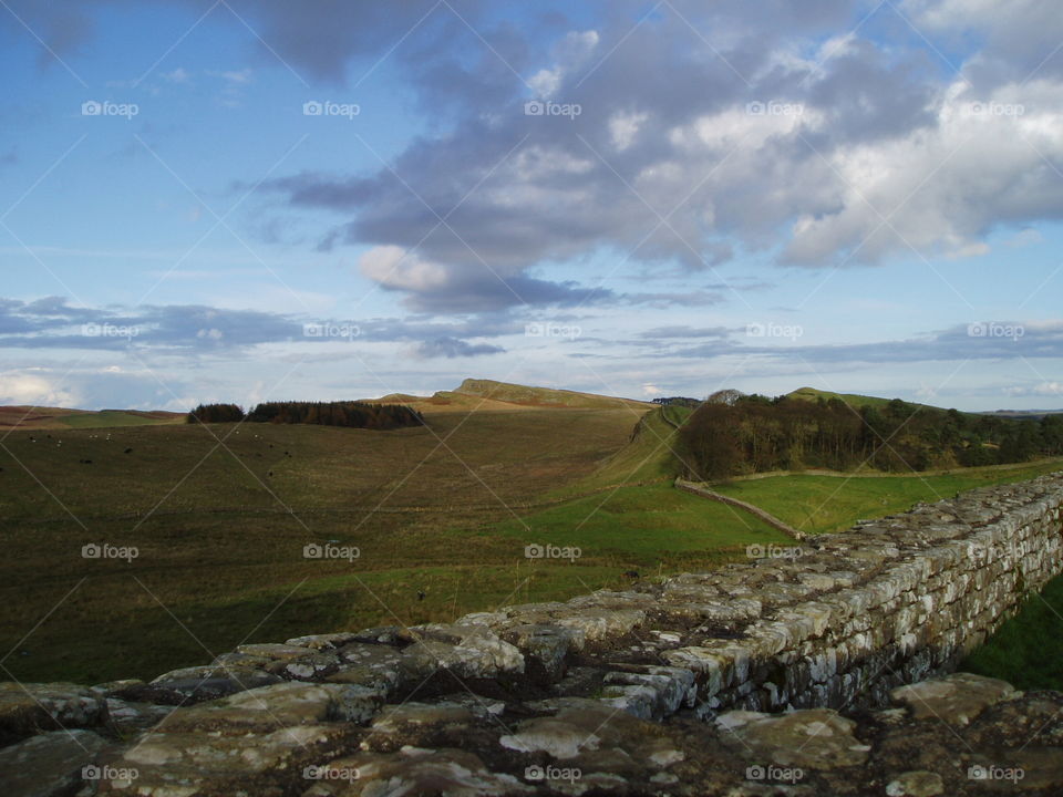
{"label": "blue sky with grey and white clouds above the hills", "polygon": [[1055,0],[0,6],[0,404],[1063,407]]}

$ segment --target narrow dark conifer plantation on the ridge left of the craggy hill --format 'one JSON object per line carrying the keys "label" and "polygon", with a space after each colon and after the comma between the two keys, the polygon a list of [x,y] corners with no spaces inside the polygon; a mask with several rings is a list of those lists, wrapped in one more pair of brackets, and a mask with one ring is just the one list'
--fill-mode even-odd
{"label": "narrow dark conifer plantation on the ridge left of the craggy hill", "polygon": [[262,402],[245,413],[235,404],[200,404],[188,413],[188,423],[319,424],[354,428],[391,429],[419,426],[421,413],[402,404],[368,402]]}

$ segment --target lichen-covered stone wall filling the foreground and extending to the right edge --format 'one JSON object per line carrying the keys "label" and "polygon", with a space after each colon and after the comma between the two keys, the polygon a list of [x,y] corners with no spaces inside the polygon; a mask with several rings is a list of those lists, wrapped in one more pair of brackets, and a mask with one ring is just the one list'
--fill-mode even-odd
{"label": "lichen-covered stone wall filling the foreground and extending to the right edge", "polygon": [[0,794],[1063,794],[1063,695],[948,674],[1063,569],[1063,474],[773,553],[149,683],[3,683]]}

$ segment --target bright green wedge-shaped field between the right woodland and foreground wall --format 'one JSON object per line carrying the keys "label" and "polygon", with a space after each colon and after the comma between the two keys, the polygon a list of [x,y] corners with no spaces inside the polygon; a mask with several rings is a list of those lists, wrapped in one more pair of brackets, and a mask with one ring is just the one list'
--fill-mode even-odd
{"label": "bright green wedge-shaped field between the right woodland and foreground wall", "polygon": [[918,501],[951,498],[976,487],[1023,482],[1060,469],[1063,460],[929,476],[768,476],[714,485],[713,489],[754,504],[801,531],[822,534],[844,530],[860,518],[907,511]]}

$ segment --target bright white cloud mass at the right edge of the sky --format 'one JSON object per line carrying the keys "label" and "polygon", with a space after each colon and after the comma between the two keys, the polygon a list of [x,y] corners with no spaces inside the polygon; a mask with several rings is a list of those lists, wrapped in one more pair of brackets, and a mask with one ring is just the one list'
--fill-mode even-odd
{"label": "bright white cloud mass at the right edge of the sky", "polygon": [[[1019,113],[1029,94],[1040,102]],[[802,215],[787,253],[806,262],[857,248],[861,260],[909,248],[984,255],[983,237],[995,225],[1063,213],[1059,176],[1045,163],[1060,156],[1063,84],[1009,84],[978,96],[957,82],[943,93],[936,127],[840,147],[827,158],[840,206]]]}

